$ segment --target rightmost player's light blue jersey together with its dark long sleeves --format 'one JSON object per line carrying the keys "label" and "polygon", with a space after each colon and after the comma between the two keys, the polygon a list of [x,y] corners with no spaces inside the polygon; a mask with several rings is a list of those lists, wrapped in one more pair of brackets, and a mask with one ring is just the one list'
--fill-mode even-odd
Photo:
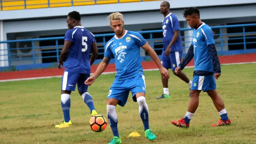
{"label": "rightmost player's light blue jersey together with its dark long sleeves", "polygon": [[215,48],[212,29],[205,23],[200,24],[193,30],[193,40],[188,53],[179,64],[183,69],[194,57],[194,76],[206,76],[213,73],[220,73],[220,61]]}

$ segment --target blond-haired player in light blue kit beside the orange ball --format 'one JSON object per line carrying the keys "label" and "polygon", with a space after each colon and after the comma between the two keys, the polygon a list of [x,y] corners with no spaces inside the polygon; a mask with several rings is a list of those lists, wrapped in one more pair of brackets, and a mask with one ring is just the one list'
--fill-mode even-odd
{"label": "blond-haired player in light blue kit beside the orange ball", "polygon": [[162,66],[156,52],[139,33],[124,29],[124,19],[121,13],[111,13],[108,20],[116,35],[107,42],[102,62],[95,73],[85,81],[85,84],[91,85],[107,68],[111,58],[115,57],[117,74],[108,92],[107,100],[108,121],[114,134],[114,138],[109,144],[122,142],[117,129],[116,105],[124,107],[129,92],[132,92],[133,101],[139,104],[139,114],[144,125],[145,137],[148,140],[155,140],[156,136],[149,129],[148,123],[148,105],[145,99],[146,85],[140,61],[140,47],[148,52],[155,61],[163,77],[169,78],[170,74]]}

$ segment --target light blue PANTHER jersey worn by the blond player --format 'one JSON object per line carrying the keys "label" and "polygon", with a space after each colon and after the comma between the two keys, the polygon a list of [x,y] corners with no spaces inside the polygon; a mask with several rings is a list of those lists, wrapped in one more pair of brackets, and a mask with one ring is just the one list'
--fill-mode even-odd
{"label": "light blue PANTHER jersey worn by the blond player", "polygon": [[123,80],[144,74],[140,61],[140,47],[147,41],[137,32],[125,30],[122,38],[114,36],[105,47],[105,57],[116,61],[116,79]]}

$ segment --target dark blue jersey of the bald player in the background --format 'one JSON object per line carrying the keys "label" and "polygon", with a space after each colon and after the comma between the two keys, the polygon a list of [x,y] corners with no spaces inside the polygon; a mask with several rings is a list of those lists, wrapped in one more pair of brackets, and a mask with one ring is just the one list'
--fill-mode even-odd
{"label": "dark blue jersey of the bald player in the background", "polygon": [[[164,20],[162,21],[162,28],[163,28],[163,39],[164,39],[164,48],[165,51],[172,41],[172,37],[174,36],[175,30],[180,30],[180,22],[178,17],[170,13],[168,14]],[[182,41],[181,36],[179,35],[178,40],[172,45],[171,52],[179,51],[182,52]]]}

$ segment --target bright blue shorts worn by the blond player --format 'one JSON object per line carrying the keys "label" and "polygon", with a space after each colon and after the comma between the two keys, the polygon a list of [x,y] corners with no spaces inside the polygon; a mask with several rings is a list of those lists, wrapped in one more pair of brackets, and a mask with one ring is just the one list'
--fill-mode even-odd
{"label": "bright blue shorts worn by the blond player", "polygon": [[112,86],[108,92],[108,99],[114,98],[119,100],[118,105],[124,107],[129,92],[132,92],[132,99],[137,102],[135,94],[138,92],[144,92],[146,94],[145,76],[137,75],[125,80],[114,80]]}

